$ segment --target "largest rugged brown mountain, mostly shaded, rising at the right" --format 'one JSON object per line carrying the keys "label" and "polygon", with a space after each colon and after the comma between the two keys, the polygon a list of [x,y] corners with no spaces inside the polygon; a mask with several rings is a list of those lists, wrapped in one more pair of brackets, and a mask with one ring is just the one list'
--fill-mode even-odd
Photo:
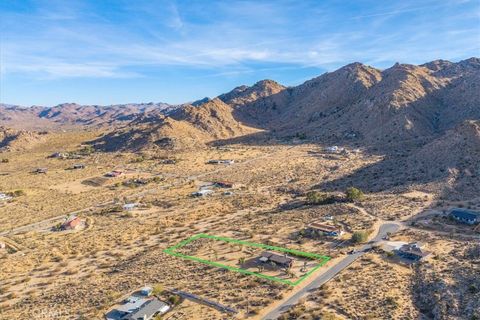
{"label": "largest rugged brown mountain, mostly shaded, rising at the right", "polygon": [[239,112],[265,129],[368,145],[433,137],[480,118],[477,58],[378,70],[347,65]]}

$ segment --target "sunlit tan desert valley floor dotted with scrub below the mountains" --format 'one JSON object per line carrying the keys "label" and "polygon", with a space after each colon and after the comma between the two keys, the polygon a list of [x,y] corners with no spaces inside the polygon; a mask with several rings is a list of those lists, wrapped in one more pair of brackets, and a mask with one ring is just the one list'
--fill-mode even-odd
{"label": "sunlit tan desert valley floor dotted with scrub below the mountains", "polygon": [[[327,152],[326,145],[295,138],[164,153],[85,148],[99,134],[53,132],[28,151],[0,153],[0,192],[12,197],[0,202],[1,319],[101,319],[144,286],[230,310],[182,298],[162,319],[268,319],[277,312],[283,319],[480,317],[480,234],[443,217],[454,207],[480,209],[480,198],[456,199],[433,181],[365,191],[361,201],[312,204],[312,190],[342,199],[347,187],[357,186],[342,178],[382,155]],[[234,161],[208,163],[215,159]],[[47,172],[35,173],[38,168]],[[105,177],[114,171],[118,176]],[[59,227],[73,216],[80,221],[73,230]],[[304,230],[315,221],[334,221],[344,232],[308,237]],[[389,232],[382,234],[385,226]],[[367,244],[353,243],[355,232],[366,234],[361,242]],[[197,234],[330,260],[291,286],[164,252]],[[419,264],[403,263],[383,249],[396,242],[421,242],[431,254]],[[190,255],[240,268],[240,256],[259,254],[235,245],[191,247],[185,247],[196,250]],[[345,259],[351,261],[338,267]],[[338,274],[315,287],[336,267]],[[301,269],[270,273],[296,279]]]}

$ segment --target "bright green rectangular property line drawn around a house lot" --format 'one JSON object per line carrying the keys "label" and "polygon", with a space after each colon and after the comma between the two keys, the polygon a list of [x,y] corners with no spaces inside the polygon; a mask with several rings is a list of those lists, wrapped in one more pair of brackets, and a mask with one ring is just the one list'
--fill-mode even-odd
{"label": "bright green rectangular property line drawn around a house lot", "polygon": [[[262,249],[286,252],[286,253],[290,253],[290,254],[293,254],[293,255],[296,255],[296,256],[306,257],[306,258],[309,258],[309,259],[312,259],[312,260],[319,260],[319,263],[312,270],[310,270],[309,272],[304,274],[302,277],[300,277],[297,281],[293,282],[293,281],[289,281],[289,280],[280,279],[278,277],[267,276],[266,274],[263,274],[263,273],[248,271],[248,270],[241,269],[241,268],[227,266],[225,264],[221,264],[221,263],[214,262],[214,261],[211,261],[211,260],[206,260],[206,259],[198,258],[198,257],[195,257],[195,256],[185,255],[185,254],[182,254],[182,253],[179,253],[179,252],[176,251],[176,250],[180,249],[181,247],[183,247],[183,246],[185,246],[185,245],[189,244],[190,242],[195,241],[197,239],[214,239],[214,240],[220,240],[220,241],[234,243],[234,244],[241,244],[241,245],[245,245],[245,246],[249,246],[249,247],[257,247],[257,248],[262,248]],[[204,264],[207,264],[207,265],[210,265],[210,266],[214,266],[214,267],[217,267],[217,268],[222,268],[222,269],[227,269],[227,270],[230,270],[230,271],[235,271],[235,272],[239,272],[239,273],[243,273],[243,274],[247,274],[247,275],[252,275],[252,276],[259,277],[259,278],[263,278],[263,279],[272,280],[272,281],[280,282],[280,283],[283,283],[283,284],[287,284],[287,285],[290,285],[290,286],[296,286],[296,285],[300,284],[302,281],[307,279],[312,273],[317,271],[319,268],[323,267],[331,259],[329,256],[324,256],[324,255],[320,255],[320,254],[316,254],[316,253],[309,253],[309,252],[304,252],[304,251],[299,251],[299,250],[294,250],[294,249],[287,249],[287,248],[282,248],[282,247],[270,246],[270,245],[266,245],[266,244],[262,244],[262,243],[236,240],[236,239],[226,238],[226,237],[212,236],[212,235],[205,234],[205,233],[199,233],[199,234],[196,234],[196,235],[194,235],[190,238],[182,240],[178,244],[163,250],[163,252],[165,252],[165,253],[167,253],[171,256],[174,256],[174,257],[179,257],[179,258],[183,258],[183,259],[187,259],[187,260],[197,261],[197,262],[201,262],[201,263],[204,263]]]}

